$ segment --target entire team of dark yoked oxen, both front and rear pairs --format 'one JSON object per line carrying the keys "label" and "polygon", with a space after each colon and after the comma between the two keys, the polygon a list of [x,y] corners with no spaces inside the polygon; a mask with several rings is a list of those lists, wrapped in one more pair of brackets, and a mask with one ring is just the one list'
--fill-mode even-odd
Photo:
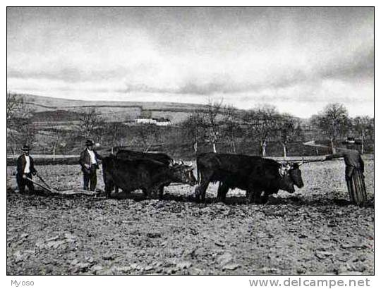
{"label": "entire team of dark yoked oxen, both front and rear pairs", "polygon": [[164,187],[171,183],[197,183],[195,199],[205,202],[208,185],[219,182],[219,201],[225,200],[230,189],[239,188],[246,191],[248,202],[255,204],[266,203],[269,195],[279,190],[293,193],[294,185],[303,187],[299,165],[280,164],[260,156],[207,152],[197,156],[196,180],[193,165],[177,163],[167,154],[121,149],[102,161],[107,197],[111,197],[112,190],[121,188],[126,192],[140,189],[146,196],[159,191],[162,198]]}

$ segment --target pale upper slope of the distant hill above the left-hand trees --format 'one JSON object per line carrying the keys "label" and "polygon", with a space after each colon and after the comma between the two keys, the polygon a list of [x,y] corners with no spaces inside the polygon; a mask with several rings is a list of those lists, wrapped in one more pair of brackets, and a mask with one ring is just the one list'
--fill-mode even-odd
{"label": "pale upper slope of the distant hill above the left-hand trees", "polygon": [[22,97],[25,104],[35,112],[33,121],[75,121],[80,111],[95,108],[105,121],[128,121],[142,113],[150,113],[152,118],[169,118],[172,123],[179,123],[195,109],[206,109],[202,104],[176,102],[85,101],[32,94],[18,94],[18,97]]}

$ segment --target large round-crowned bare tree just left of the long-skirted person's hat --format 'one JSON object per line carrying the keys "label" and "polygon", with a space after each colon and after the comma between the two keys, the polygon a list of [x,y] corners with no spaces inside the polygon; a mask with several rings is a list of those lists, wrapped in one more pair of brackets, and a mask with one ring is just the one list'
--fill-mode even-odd
{"label": "large round-crowned bare tree just left of the long-skirted person's hat", "polygon": [[311,116],[310,123],[320,128],[329,137],[332,153],[336,152],[335,143],[338,137],[345,135],[349,130],[348,111],[343,104],[328,104],[325,109],[315,116]]}

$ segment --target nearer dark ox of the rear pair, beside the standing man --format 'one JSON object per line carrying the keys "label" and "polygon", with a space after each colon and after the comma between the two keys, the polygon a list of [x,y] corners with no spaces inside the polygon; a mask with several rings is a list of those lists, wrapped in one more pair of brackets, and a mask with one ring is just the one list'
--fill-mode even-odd
{"label": "nearer dark ox of the rear pair, beside the standing man", "polygon": [[184,164],[167,166],[152,159],[126,160],[107,156],[102,161],[102,167],[104,191],[107,197],[111,196],[114,186],[121,187],[125,192],[140,189],[150,197],[152,192],[157,192],[159,187],[167,183],[195,184],[193,174],[189,173],[193,170],[193,166]]}

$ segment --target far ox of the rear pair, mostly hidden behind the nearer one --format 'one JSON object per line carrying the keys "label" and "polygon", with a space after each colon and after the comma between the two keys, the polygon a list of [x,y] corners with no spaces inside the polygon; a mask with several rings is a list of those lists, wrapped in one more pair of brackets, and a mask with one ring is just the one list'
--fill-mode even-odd
{"label": "far ox of the rear pair, mostly hidden behind the nearer one", "polygon": [[[118,159],[126,159],[126,160],[134,160],[134,159],[152,159],[154,161],[159,161],[166,166],[171,166],[176,164],[174,159],[171,158],[168,154],[164,153],[150,153],[150,152],[135,152],[128,149],[119,149],[116,152],[116,157]],[[195,181],[195,176],[193,175],[193,171],[189,171],[189,178]],[[159,195],[162,196],[164,194],[164,187],[167,187],[171,183],[164,183],[159,187]],[[115,192],[118,192],[118,187],[115,187]]]}

